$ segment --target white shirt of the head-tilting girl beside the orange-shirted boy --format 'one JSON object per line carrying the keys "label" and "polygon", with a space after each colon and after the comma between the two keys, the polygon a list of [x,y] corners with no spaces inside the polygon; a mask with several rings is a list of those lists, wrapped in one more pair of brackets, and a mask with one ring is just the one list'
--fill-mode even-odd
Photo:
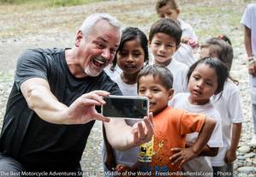
{"label": "white shirt of the head-tilting girl beside the orange-shirted boy", "polygon": [[[217,121],[216,127],[214,128],[211,138],[209,139],[207,145],[209,147],[222,147],[223,139],[222,139],[222,126],[221,126],[221,118],[217,111],[214,108],[211,101],[209,103],[205,103],[204,105],[193,105],[189,103],[188,97],[190,93],[178,93],[175,97],[171,99],[170,105],[176,109],[184,109],[188,112],[200,113],[204,114],[207,117],[213,118]],[[189,133],[186,137],[186,142],[194,143],[197,139],[199,133]],[[211,158],[210,156],[198,156],[187,162],[183,166],[184,171],[189,172],[212,172],[211,168]],[[193,176],[200,176],[193,174]],[[206,176],[212,176],[211,173]]]}

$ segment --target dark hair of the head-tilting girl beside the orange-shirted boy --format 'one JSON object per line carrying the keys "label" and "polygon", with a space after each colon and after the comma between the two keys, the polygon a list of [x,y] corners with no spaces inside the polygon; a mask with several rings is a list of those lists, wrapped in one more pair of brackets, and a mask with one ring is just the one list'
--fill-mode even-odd
{"label": "dark hair of the head-tilting girl beside the orange-shirted boy", "polygon": [[217,74],[217,90],[216,94],[223,91],[223,87],[225,81],[227,80],[229,73],[227,67],[218,60],[217,58],[213,58],[211,56],[206,56],[205,58],[199,59],[197,62],[194,62],[193,65],[188,69],[187,79],[189,82],[190,76],[193,73],[193,70],[199,65],[204,63],[208,65],[210,68],[214,68]]}

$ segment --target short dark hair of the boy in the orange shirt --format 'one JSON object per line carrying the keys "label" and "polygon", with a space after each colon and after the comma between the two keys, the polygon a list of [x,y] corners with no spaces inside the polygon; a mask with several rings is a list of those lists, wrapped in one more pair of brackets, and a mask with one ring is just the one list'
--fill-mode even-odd
{"label": "short dark hair of the boy in the orange shirt", "polygon": [[172,89],[173,85],[173,76],[170,73],[170,70],[168,68],[165,68],[164,66],[160,65],[147,65],[145,68],[140,70],[140,73],[137,76],[137,86],[139,89],[139,80],[142,76],[146,75],[152,75],[153,78],[158,78],[161,80],[164,88],[166,89]]}

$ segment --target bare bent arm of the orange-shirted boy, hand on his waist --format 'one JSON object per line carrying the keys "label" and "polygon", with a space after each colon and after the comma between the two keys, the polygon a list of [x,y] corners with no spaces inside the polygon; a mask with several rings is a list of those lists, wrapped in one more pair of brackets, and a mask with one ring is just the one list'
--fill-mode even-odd
{"label": "bare bent arm of the orange-shirted boy, hand on his waist", "polygon": [[208,140],[211,138],[211,133],[216,126],[216,121],[211,118],[205,118],[204,126],[199,132],[199,136],[196,139],[195,143],[189,147],[181,150],[180,148],[173,148],[171,150],[179,151],[175,155],[170,156],[170,161],[175,164],[179,162],[179,166],[182,167],[183,164],[188,162],[195,156],[198,156],[201,150],[203,149]]}

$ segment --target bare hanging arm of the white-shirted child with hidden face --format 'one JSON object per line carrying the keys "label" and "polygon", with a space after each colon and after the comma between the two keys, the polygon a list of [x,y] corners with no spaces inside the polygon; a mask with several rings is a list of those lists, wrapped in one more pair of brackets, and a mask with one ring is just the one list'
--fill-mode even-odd
{"label": "bare hanging arm of the white-shirted child with hidden face", "polygon": [[229,150],[226,152],[224,161],[226,163],[234,162],[236,159],[236,149],[241,136],[241,123],[233,123],[232,140]]}

